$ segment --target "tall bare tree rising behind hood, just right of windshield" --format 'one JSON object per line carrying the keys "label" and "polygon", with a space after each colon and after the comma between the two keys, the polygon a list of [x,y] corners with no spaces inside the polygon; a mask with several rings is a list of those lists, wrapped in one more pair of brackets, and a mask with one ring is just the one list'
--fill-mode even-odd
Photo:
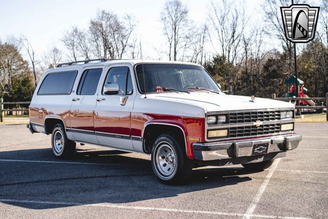
{"label": "tall bare tree rising behind hood, just right of windshield", "polygon": [[[231,1],[222,0],[221,4],[212,2],[209,8],[209,22],[215,33],[213,36],[210,34],[210,39],[215,51],[220,51],[223,57],[224,75],[228,81],[229,94],[232,94],[232,82],[236,79],[243,59],[242,56],[241,60],[237,61],[242,34],[247,23],[245,8],[243,7],[240,12],[240,8]],[[233,69],[234,64],[236,69]]]}

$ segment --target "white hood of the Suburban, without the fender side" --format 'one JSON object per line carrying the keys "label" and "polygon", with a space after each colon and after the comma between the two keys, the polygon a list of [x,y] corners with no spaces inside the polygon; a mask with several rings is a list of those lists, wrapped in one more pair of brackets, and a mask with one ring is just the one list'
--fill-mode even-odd
{"label": "white hood of the Suburban, without the fender side", "polygon": [[203,91],[188,93],[156,93],[149,94],[147,98],[183,102],[200,106],[207,112],[230,111],[230,110],[249,110],[249,109],[275,109],[275,108],[294,108],[294,105],[284,101],[271,100],[255,97],[254,102],[250,96],[236,96],[215,94]]}

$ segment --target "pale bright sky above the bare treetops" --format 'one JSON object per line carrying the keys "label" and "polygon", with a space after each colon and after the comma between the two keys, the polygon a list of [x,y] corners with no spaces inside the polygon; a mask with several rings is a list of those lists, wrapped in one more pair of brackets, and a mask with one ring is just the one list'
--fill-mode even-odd
{"label": "pale bright sky above the bare treetops", "polygon": [[[210,0],[182,0],[189,6],[189,16],[195,23],[207,18]],[[260,9],[260,0],[246,0],[248,12]],[[97,9],[113,11],[119,16],[133,14],[138,20],[137,33],[145,46],[144,54],[157,58],[152,46],[161,47],[165,38],[158,21],[165,1],[162,0],[92,0],[92,1],[5,1],[0,0],[0,38],[23,33],[30,40],[35,52],[42,55],[52,43],[59,48],[63,32],[72,25],[88,28]],[[256,15],[257,19],[261,19]],[[152,46],[150,46],[152,45]],[[144,46],[143,46],[144,47]]]}

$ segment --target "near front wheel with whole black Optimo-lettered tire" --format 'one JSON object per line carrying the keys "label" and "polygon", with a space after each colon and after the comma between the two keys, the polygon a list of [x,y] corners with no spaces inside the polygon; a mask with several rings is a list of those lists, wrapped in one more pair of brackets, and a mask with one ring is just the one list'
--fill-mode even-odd
{"label": "near front wheel with whole black Optimo-lettered tire", "polygon": [[194,160],[187,157],[185,145],[173,133],[164,133],[156,138],[151,159],[155,176],[160,182],[171,185],[186,182],[194,164]]}

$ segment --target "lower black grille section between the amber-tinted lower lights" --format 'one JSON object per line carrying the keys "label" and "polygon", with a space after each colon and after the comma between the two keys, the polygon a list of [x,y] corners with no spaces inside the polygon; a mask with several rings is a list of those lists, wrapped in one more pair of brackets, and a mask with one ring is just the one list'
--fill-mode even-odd
{"label": "lower black grille section between the amber-tinted lower lights", "polygon": [[[280,114],[280,112],[279,112]],[[262,120],[263,121],[263,120]],[[269,120],[264,120],[269,121]],[[247,137],[262,134],[275,134],[280,132],[280,124],[267,124],[256,126],[238,126],[229,128],[229,138]]]}

